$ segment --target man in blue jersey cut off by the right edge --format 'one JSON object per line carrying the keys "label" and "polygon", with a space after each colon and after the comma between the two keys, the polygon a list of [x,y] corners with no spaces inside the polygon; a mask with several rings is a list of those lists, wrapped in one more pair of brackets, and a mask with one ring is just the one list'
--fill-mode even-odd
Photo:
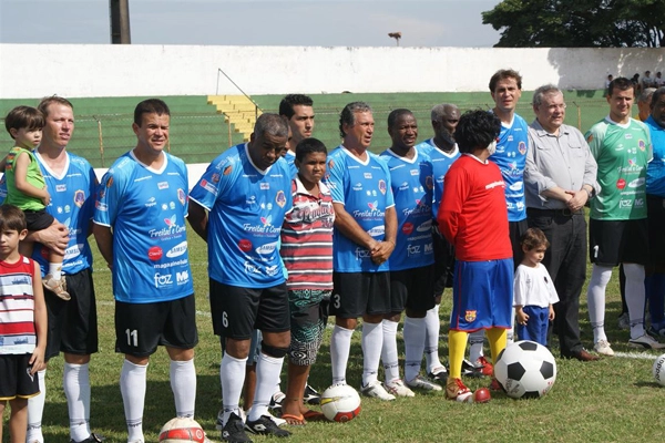
{"label": "man in blue jersey cut off by the right edge", "polygon": [[665,337],[665,87],[652,95],[648,127],[654,158],[646,168],[646,212],[648,225],[649,264],[645,267],[645,289],[651,315],[649,332]]}

